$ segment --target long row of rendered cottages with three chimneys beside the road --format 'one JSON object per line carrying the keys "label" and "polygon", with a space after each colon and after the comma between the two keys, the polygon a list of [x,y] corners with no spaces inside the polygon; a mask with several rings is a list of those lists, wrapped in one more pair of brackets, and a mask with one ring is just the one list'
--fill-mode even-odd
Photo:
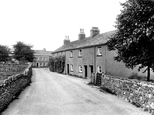
{"label": "long row of rendered cottages with three chimneys beside the road", "polygon": [[114,61],[115,51],[108,51],[107,42],[116,31],[100,34],[97,27],[90,30],[90,37],[85,37],[80,30],[78,40],[70,42],[66,36],[64,45],[52,52],[52,56],[65,55],[65,74],[90,77],[92,73],[105,73],[114,76],[130,77],[133,74],[145,75],[138,68],[127,69],[122,62]]}

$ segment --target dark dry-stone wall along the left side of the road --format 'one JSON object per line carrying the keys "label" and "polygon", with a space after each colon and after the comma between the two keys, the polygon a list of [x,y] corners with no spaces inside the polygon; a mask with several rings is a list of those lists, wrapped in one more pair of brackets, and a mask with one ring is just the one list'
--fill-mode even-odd
{"label": "dark dry-stone wall along the left side of the road", "polygon": [[29,64],[22,73],[4,80],[0,85],[0,113],[30,84],[31,76],[32,67]]}

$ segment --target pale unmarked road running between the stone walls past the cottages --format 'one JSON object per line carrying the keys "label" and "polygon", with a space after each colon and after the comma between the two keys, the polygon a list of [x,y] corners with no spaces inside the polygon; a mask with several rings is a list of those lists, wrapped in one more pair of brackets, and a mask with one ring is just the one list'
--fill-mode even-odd
{"label": "pale unmarked road running between the stone walls past the cottages", "polygon": [[2,115],[149,115],[85,82],[48,69],[33,69],[31,86]]}

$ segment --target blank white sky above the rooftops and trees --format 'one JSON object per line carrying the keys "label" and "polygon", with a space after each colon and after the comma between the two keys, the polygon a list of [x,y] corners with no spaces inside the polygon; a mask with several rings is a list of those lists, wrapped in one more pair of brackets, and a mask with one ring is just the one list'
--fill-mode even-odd
{"label": "blank white sky above the rooftops and trees", "polygon": [[115,30],[120,2],[126,0],[0,0],[0,45],[12,48],[17,41],[35,50],[54,51],[65,36],[86,37],[92,27],[100,33]]}

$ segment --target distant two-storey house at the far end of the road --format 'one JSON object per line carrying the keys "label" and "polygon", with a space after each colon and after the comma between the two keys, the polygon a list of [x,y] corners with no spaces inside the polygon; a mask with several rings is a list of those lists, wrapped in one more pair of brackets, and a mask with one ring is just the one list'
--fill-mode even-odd
{"label": "distant two-storey house at the far end of the road", "polygon": [[34,50],[35,60],[33,61],[33,67],[47,67],[51,51]]}

